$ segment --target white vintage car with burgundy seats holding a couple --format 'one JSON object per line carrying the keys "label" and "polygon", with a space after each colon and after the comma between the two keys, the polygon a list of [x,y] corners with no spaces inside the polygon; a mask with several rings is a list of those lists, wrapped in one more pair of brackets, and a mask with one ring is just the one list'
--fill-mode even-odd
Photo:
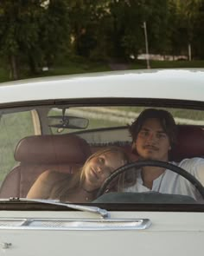
{"label": "white vintage car with burgundy seats holding a couple", "polygon": [[[81,204],[27,198],[46,170],[73,174],[90,154],[109,146],[131,154],[128,126],[145,108],[167,109],[174,116],[179,143],[172,161],[204,157],[204,69],[1,84],[0,255],[202,254],[204,187],[192,177],[187,177],[189,186],[201,200],[180,194],[103,194],[105,187],[95,200]],[[137,169],[141,162],[117,172],[130,167]],[[176,167],[173,171],[179,173]]]}

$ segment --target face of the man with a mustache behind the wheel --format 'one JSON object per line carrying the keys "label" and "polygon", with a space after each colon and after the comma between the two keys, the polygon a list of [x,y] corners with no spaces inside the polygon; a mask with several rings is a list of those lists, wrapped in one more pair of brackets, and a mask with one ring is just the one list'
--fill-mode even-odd
{"label": "face of the man with a mustache behind the wheel", "polygon": [[143,122],[133,148],[143,159],[168,161],[169,137],[158,119],[150,118]]}

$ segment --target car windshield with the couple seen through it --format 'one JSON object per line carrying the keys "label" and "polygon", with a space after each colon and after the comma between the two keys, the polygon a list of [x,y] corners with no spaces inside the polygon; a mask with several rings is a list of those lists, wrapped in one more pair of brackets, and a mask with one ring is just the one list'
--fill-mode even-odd
{"label": "car windshield with the couple seen through it", "polygon": [[[157,105],[65,102],[1,108],[1,200],[118,209],[202,205],[204,112]],[[155,115],[133,129],[138,116],[152,108],[174,118],[176,139],[170,124]]]}

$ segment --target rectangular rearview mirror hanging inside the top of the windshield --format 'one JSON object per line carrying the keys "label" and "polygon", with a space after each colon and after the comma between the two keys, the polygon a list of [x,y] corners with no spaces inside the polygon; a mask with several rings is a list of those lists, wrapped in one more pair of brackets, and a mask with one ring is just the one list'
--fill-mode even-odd
{"label": "rectangular rearview mirror hanging inside the top of the windshield", "polygon": [[83,117],[69,115],[48,116],[48,126],[52,128],[85,129],[88,123],[88,119]]}

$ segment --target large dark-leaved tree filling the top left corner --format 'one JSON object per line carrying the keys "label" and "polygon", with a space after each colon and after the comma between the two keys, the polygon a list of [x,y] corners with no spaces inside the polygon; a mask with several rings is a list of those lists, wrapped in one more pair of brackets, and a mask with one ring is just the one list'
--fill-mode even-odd
{"label": "large dark-leaved tree filling the top left corner", "polygon": [[1,0],[0,51],[13,79],[19,66],[31,73],[54,59],[69,38],[65,0]]}

